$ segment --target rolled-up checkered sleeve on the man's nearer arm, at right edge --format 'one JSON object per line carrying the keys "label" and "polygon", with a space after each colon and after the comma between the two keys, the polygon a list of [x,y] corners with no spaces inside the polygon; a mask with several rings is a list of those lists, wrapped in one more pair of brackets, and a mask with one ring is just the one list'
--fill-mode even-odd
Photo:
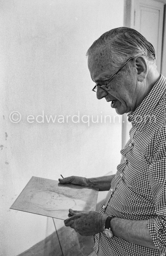
{"label": "rolled-up checkered sleeve on the man's nearer arm, at right edge", "polygon": [[153,163],[148,177],[155,200],[154,218],[147,221],[155,246],[166,255],[166,128],[162,126],[155,141]]}

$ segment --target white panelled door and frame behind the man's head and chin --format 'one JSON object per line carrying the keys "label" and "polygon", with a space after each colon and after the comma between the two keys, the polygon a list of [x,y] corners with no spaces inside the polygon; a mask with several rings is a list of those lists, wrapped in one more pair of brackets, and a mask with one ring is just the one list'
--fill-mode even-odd
{"label": "white panelled door and frame behind the man's head and chin", "polygon": [[[152,43],[156,52],[158,72],[161,72],[163,39],[164,1],[126,0],[124,7],[124,26],[136,29]],[[127,115],[123,115],[122,148],[129,139],[131,124]]]}

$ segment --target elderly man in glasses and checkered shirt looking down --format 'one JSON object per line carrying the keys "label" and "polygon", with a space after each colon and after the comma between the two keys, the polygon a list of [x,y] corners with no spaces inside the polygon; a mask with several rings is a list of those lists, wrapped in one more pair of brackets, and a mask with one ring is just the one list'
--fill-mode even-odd
{"label": "elderly man in glasses and checkered shirt looking down", "polygon": [[116,175],[59,180],[109,190],[100,212],[69,209],[65,226],[94,235],[100,256],[166,255],[166,79],[155,50],[122,27],[101,35],[87,55],[97,99],[128,113],[132,128]]}

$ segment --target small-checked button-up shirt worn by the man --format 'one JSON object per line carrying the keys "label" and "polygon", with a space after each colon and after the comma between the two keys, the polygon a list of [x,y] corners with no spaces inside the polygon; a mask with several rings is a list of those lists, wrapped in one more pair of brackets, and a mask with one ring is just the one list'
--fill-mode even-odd
{"label": "small-checked button-up shirt worn by the man", "polygon": [[99,256],[166,255],[166,78],[160,75],[134,112],[130,139],[100,212],[110,216],[148,220],[152,249],[103,232],[94,236]]}

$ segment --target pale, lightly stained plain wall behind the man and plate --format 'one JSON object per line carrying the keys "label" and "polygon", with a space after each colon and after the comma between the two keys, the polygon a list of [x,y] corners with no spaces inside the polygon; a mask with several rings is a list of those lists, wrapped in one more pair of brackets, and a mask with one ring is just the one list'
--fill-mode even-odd
{"label": "pale, lightly stained plain wall behind the man and plate", "polygon": [[[122,25],[123,0],[0,2],[1,255],[17,255],[54,231],[47,217],[9,209],[32,176],[57,180],[60,174],[94,177],[116,171],[118,121],[88,127],[71,119],[28,123],[26,118],[42,111],[116,114],[91,91],[85,54],[102,33]],[[21,113],[19,123],[9,120],[12,111]]]}

